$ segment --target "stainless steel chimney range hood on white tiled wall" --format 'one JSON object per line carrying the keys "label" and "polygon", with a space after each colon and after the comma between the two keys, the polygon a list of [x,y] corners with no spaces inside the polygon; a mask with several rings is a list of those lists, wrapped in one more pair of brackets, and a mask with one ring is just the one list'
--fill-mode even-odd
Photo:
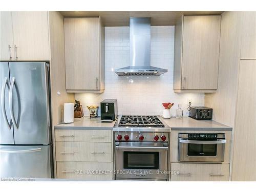
{"label": "stainless steel chimney range hood on white tiled wall", "polygon": [[130,66],[116,69],[118,75],[161,75],[167,69],[150,65],[151,24],[150,18],[130,18]]}

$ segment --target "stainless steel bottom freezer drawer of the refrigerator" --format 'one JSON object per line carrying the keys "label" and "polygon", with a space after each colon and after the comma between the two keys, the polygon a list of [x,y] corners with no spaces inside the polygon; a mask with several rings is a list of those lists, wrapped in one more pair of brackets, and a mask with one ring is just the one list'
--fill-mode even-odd
{"label": "stainless steel bottom freezer drawer of the refrigerator", "polygon": [[51,145],[0,145],[1,178],[51,178]]}

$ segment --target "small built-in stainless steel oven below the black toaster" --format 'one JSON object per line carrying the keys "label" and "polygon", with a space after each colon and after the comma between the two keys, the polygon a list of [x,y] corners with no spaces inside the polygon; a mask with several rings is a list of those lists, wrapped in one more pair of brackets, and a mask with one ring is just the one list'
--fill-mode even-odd
{"label": "small built-in stainless steel oven below the black toaster", "polygon": [[224,133],[179,133],[178,160],[185,162],[223,162]]}

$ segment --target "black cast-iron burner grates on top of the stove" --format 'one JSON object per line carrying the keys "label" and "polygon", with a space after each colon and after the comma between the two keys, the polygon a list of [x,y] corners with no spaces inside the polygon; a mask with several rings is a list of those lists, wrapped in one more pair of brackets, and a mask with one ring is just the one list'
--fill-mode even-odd
{"label": "black cast-iron burner grates on top of the stove", "polygon": [[122,115],[118,126],[164,127],[164,124],[156,115]]}

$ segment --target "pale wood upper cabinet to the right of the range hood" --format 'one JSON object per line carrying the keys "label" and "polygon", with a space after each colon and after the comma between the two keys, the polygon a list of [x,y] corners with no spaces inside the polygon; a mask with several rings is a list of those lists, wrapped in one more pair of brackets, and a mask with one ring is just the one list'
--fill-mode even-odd
{"label": "pale wood upper cabinet to the right of the range hood", "polygon": [[181,17],[175,26],[175,92],[216,92],[220,27],[220,15]]}

